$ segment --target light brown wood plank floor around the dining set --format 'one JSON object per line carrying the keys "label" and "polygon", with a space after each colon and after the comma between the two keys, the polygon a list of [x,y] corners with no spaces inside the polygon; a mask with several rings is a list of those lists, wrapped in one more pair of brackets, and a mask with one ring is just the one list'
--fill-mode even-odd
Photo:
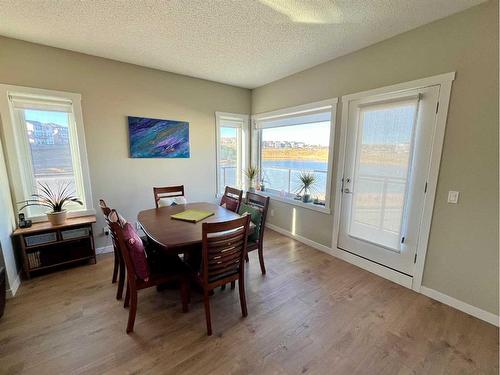
{"label": "light brown wood plank floor around the dining set", "polygon": [[23,282],[0,320],[1,374],[498,374],[498,329],[272,231],[267,275],[181,313],[174,290],[139,293],[135,332],[112,256]]}

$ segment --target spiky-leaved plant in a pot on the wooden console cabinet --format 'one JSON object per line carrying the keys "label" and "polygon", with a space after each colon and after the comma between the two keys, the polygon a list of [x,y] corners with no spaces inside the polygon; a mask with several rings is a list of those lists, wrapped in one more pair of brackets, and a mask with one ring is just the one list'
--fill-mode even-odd
{"label": "spiky-leaved plant in a pot on the wooden console cabinet", "polygon": [[42,206],[48,207],[51,211],[47,212],[47,219],[52,225],[61,225],[66,220],[66,210],[64,207],[71,202],[83,205],[80,198],[74,195],[74,192],[70,191],[70,183],[59,184],[57,191],[52,190],[47,183],[40,182],[39,193],[32,194],[30,199],[25,200],[24,205],[19,209],[29,207],[29,206]]}

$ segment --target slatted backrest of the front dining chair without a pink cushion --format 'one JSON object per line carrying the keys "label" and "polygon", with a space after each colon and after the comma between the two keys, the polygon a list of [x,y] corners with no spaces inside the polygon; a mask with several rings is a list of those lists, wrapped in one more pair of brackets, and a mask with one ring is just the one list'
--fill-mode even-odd
{"label": "slatted backrest of the front dining chair without a pink cushion", "polygon": [[[202,225],[202,281],[204,288],[243,277],[250,216]],[[226,281],[227,283],[228,281]]]}

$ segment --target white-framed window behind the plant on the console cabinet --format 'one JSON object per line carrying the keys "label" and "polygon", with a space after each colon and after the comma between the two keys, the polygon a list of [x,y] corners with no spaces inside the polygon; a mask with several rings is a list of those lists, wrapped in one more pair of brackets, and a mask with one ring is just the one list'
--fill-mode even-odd
{"label": "white-framed window behind the plant on the console cabinet", "polygon": [[[83,206],[66,206],[70,216],[93,213],[80,95],[0,85],[7,100],[0,103],[11,183],[17,202],[38,193],[68,186]],[[90,209],[89,209],[90,208]],[[44,218],[47,208],[25,209],[28,217]]]}

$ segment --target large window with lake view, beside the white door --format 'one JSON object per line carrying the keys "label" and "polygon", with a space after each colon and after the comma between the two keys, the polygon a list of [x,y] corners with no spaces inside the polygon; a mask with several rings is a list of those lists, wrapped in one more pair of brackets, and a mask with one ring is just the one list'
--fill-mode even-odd
{"label": "large window with lake view, beside the white door", "polygon": [[[329,209],[336,102],[255,116],[264,192],[309,208]],[[313,179],[306,190],[304,177]]]}

